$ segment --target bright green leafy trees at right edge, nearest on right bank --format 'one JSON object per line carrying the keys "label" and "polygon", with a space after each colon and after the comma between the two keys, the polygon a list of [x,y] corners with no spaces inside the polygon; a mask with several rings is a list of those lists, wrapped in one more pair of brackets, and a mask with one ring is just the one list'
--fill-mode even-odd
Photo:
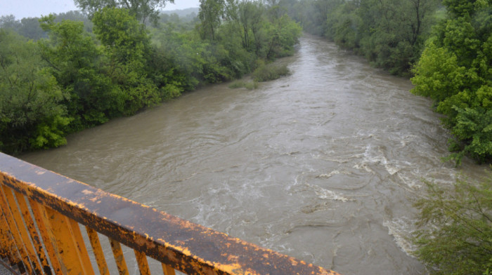
{"label": "bright green leafy trees at right edge, nearest on right bank", "polygon": [[436,25],[415,66],[412,90],[436,102],[454,138],[451,159],[492,157],[492,2],[445,0],[448,18]]}

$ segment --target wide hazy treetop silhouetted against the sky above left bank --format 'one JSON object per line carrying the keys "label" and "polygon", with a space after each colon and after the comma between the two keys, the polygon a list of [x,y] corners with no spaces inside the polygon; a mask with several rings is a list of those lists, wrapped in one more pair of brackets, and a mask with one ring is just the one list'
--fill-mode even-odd
{"label": "wide hazy treetop silhouetted against the sky above left bank", "polygon": [[144,25],[147,19],[157,22],[159,11],[166,3],[174,3],[174,0],[74,0],[75,4],[92,17],[103,8],[126,8],[129,14],[141,21]]}

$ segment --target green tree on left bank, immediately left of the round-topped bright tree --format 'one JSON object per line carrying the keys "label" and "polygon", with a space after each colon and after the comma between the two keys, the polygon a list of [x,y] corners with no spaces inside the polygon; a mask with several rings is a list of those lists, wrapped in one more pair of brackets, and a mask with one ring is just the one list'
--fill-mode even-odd
{"label": "green tree on left bank, immediately left of the round-topped bright tree", "polygon": [[122,112],[122,95],[101,69],[103,51],[84,31],[82,22],[63,20],[54,15],[41,19],[49,39],[39,41],[41,57],[64,92],[68,113],[74,121],[72,130],[104,123]]}

